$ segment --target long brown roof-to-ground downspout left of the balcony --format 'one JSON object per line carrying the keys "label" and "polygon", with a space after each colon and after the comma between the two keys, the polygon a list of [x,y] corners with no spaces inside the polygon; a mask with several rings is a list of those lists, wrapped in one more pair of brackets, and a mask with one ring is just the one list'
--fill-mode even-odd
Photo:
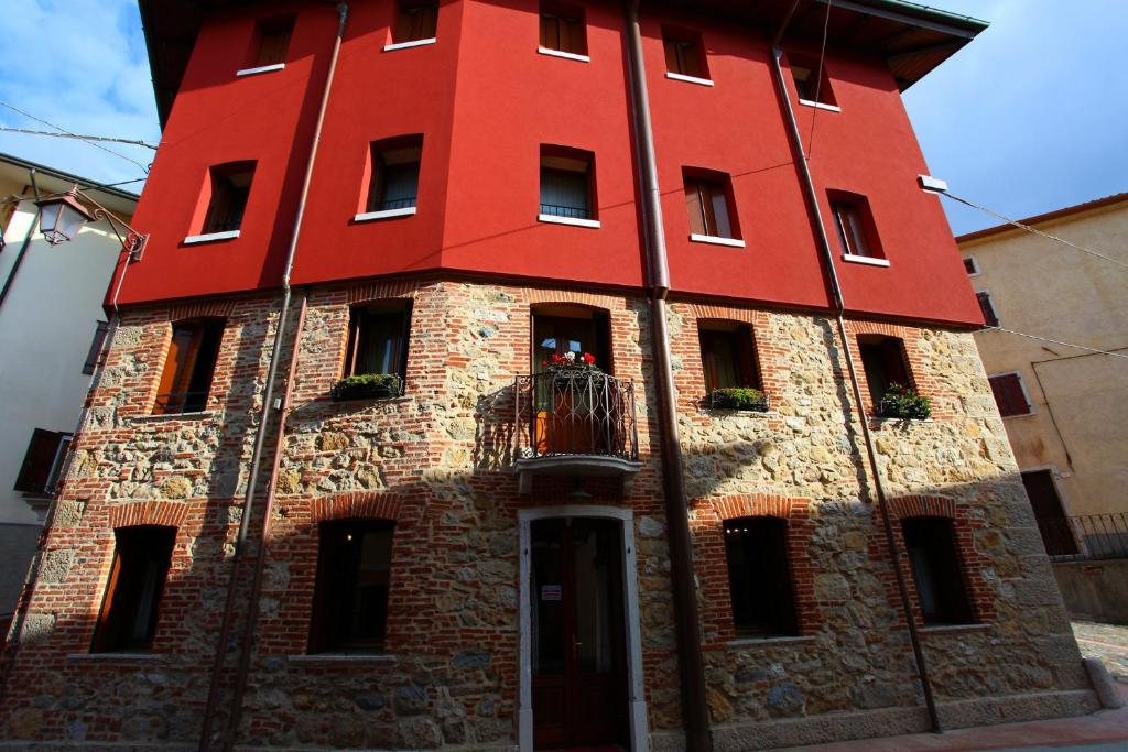
{"label": "long brown roof-to-ground downspout left of the balcony", "polygon": [[[215,717],[215,707],[219,702],[220,685],[222,683],[221,672],[223,669],[223,658],[227,653],[227,643],[231,635],[232,621],[233,621],[233,607],[236,600],[236,591],[238,590],[238,574],[240,569],[240,563],[243,556],[246,554],[247,546],[247,533],[250,529],[250,517],[254,512],[254,498],[255,489],[258,485],[258,468],[263,459],[263,444],[266,441],[266,425],[270,422],[272,405],[274,401],[274,379],[277,374],[279,357],[282,354],[282,344],[285,337],[285,324],[287,318],[290,313],[290,273],[293,271],[293,259],[294,254],[298,250],[298,239],[301,235],[302,219],[306,215],[306,201],[309,196],[309,186],[314,177],[314,165],[317,161],[317,150],[321,141],[321,127],[325,123],[325,112],[329,103],[329,92],[333,89],[333,77],[337,69],[337,57],[341,54],[341,42],[344,38],[345,23],[349,19],[349,3],[342,2],[337,5],[337,33],[333,42],[333,53],[329,57],[329,69],[325,76],[325,87],[321,91],[321,103],[317,113],[317,123],[314,126],[314,138],[310,144],[309,159],[306,162],[306,175],[302,178],[301,184],[301,196],[298,200],[298,209],[294,214],[293,231],[290,236],[290,245],[287,249],[285,265],[282,269],[282,306],[279,312],[277,327],[274,330],[274,345],[271,351],[270,365],[266,369],[266,382],[263,388],[263,408],[258,416],[258,428],[255,432],[255,445],[254,451],[250,455],[250,474],[247,478],[247,490],[244,495],[243,501],[243,514],[239,520],[239,534],[236,539],[233,563],[231,567],[231,577],[228,582],[227,590],[227,601],[223,607],[223,620],[220,625],[219,639],[215,642],[215,660],[212,665],[212,676],[211,685],[208,690],[208,705],[204,707],[204,717],[202,722],[202,727],[200,732],[200,752],[208,752],[211,749],[212,743],[212,724]],[[297,348],[298,343],[294,343]],[[287,397],[289,399],[290,381],[287,382]],[[273,483],[273,477],[271,479]],[[267,497],[268,499],[270,497]],[[265,545],[265,528],[267,520],[263,521],[263,537],[259,540],[259,549]],[[255,581],[261,578],[263,557],[259,556],[255,559]],[[252,610],[248,609],[248,623]],[[240,652],[246,652],[249,645],[244,642],[240,645]],[[243,665],[243,658],[240,657],[240,669]],[[236,698],[238,699],[238,698]],[[231,717],[237,716],[239,713],[238,706],[232,706],[231,713],[229,715],[229,720]],[[228,728],[233,728],[228,726]],[[229,734],[228,734],[229,736]],[[232,740],[226,738],[223,741],[223,749],[228,750],[231,747]]]}

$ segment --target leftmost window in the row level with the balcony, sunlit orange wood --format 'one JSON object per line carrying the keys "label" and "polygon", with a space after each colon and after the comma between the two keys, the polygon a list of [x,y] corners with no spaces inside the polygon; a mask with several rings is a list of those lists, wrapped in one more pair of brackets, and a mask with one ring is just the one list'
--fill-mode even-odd
{"label": "leftmost window in the row level with the balcony, sunlit orange wood", "polygon": [[204,409],[222,338],[222,321],[184,321],[173,326],[173,339],[160,375],[153,415]]}

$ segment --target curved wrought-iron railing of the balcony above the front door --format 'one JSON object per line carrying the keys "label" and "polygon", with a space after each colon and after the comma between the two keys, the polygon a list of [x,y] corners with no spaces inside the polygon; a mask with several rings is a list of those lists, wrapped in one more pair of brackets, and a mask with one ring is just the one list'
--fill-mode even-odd
{"label": "curved wrought-iron railing of the balcony above the front door", "polygon": [[633,381],[590,372],[519,375],[514,402],[520,458],[638,460]]}

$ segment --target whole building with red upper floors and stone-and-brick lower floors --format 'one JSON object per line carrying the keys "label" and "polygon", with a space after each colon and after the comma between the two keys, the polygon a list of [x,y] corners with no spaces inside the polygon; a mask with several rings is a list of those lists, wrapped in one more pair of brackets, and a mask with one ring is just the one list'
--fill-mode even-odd
{"label": "whole building with red upper floors and stone-and-brick lower floors", "polygon": [[743,750],[1095,708],[900,99],[982,23],[141,7],[150,239],[9,738]]}

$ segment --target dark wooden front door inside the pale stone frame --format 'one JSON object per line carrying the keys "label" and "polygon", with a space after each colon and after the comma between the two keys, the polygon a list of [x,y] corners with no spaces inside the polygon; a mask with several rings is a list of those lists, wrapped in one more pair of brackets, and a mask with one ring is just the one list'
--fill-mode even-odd
{"label": "dark wooden front door inside the pale stone frame", "polygon": [[532,727],[538,750],[627,744],[619,522],[531,525]]}

